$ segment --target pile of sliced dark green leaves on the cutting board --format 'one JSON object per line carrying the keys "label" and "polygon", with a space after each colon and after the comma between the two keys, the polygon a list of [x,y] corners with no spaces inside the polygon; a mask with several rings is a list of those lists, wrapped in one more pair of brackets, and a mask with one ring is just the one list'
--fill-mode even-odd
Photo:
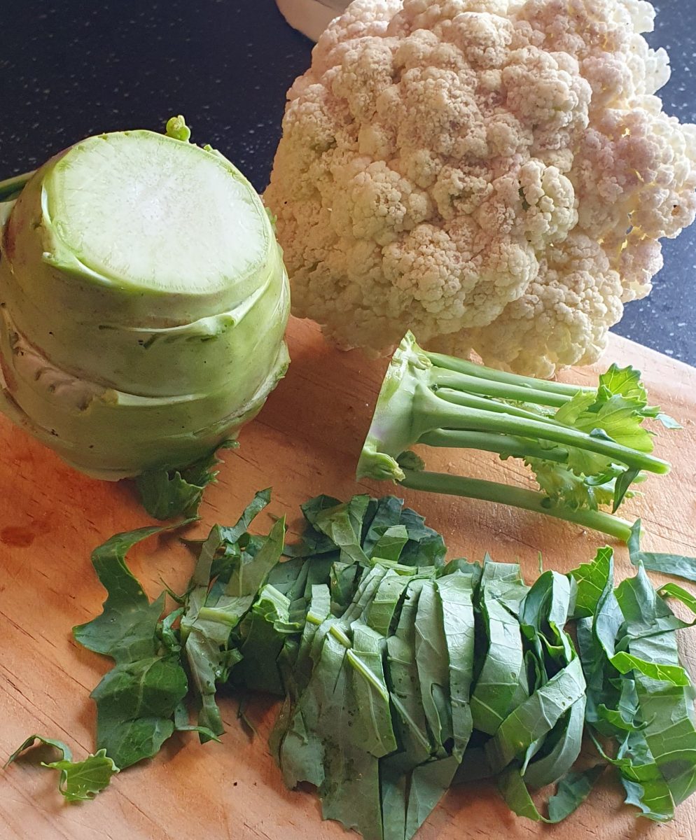
{"label": "pile of sliced dark green leaves on the cutting board", "polygon": [[[657,822],[696,790],[694,692],[676,639],[692,624],[667,604],[696,615],[696,597],[680,586],[656,591],[640,559],[614,585],[609,548],[532,586],[488,555],[448,562],[440,534],[393,496],[318,496],[303,505],[301,542],[284,546],[283,519],[250,533],[269,501],[258,492],[235,526],[191,543],[192,579],[167,614],[166,592],[150,602],[124,561],[161,529],[95,550],[108,597],[75,636],[114,666],[92,692],[99,752],[50,765],[68,774],[64,795],[93,795],[105,762],[128,767],[175,731],[219,740],[223,686],[282,698],[270,748],[285,783],[315,785],[324,818],[366,840],[409,840],[472,779],[551,823],[609,766]],[[543,814],[532,792],[547,785]]]}

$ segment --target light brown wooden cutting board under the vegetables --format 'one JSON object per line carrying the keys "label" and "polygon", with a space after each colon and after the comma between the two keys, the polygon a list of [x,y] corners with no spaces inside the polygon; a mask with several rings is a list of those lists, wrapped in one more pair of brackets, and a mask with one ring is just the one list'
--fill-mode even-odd
{"label": "light brown wooden cutting board under the vegetables", "polygon": [[[298,505],[319,493],[348,498],[383,495],[392,486],[356,484],[353,473],[387,360],[328,348],[314,325],[294,321],[293,364],[266,407],[241,434],[241,448],[225,455],[219,483],[206,494],[203,525],[235,522],[254,491],[273,487],[270,511],[287,512],[297,533]],[[672,461],[672,474],[652,478],[645,496],[627,502],[625,517],[642,517],[647,549],[696,554],[696,370],[613,336],[601,365],[635,365],[644,373],[652,402],[683,423],[663,433],[657,453]],[[563,378],[588,384],[595,370]],[[104,592],[89,563],[91,550],[118,531],[150,524],[125,483],[91,480],[0,417],[0,761],[33,732],[61,738],[76,758],[94,748],[94,706],[88,694],[108,660],[78,648],[71,627],[99,612]],[[525,471],[492,456],[440,451],[431,468],[525,483]],[[402,494],[399,494],[402,495]],[[403,493],[440,530],[451,555],[519,561],[535,579],[538,552],[546,568],[567,571],[591,559],[602,538],[532,513],[485,502]],[[264,517],[261,517],[264,519]],[[266,527],[270,519],[261,525]],[[260,526],[261,528],[261,526]],[[203,533],[192,529],[190,535]],[[620,575],[631,574],[617,547]],[[166,581],[182,590],[192,570],[177,538],[152,538],[136,547],[129,563],[150,596]],[[696,633],[696,631],[694,631]],[[684,634],[683,650],[696,675],[696,642]],[[236,719],[234,699],[222,702],[227,733],[222,744],[201,746],[195,735],[177,735],[149,763],[128,769],[92,803],[66,805],[55,773],[20,760],[0,770],[0,840],[318,840],[345,837],[321,822],[311,791],[288,791],[266,748],[277,711],[255,699],[249,710],[258,727],[250,739]],[[49,759],[52,760],[52,759]],[[419,840],[618,840],[628,837],[696,837],[696,798],[680,807],[667,827],[635,819],[621,804],[620,787],[605,778],[567,822],[540,827],[515,817],[493,785],[452,790],[419,833]]]}

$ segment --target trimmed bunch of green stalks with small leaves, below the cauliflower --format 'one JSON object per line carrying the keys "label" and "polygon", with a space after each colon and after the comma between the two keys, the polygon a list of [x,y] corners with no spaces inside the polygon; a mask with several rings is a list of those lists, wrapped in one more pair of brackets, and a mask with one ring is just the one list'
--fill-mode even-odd
{"label": "trimmed bunch of green stalks with small leaves, below the cauliflower", "polygon": [[[382,384],[357,476],[498,501],[627,542],[630,523],[612,514],[646,472],[670,468],[651,455],[653,433],[642,425],[648,418],[680,428],[648,405],[635,368],[612,365],[596,389],[581,388],[428,353],[407,333]],[[426,472],[414,444],[521,459],[540,492]]]}

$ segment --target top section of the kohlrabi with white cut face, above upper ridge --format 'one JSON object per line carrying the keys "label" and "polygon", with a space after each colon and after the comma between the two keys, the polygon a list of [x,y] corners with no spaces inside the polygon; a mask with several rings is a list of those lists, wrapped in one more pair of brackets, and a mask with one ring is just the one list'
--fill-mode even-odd
{"label": "top section of the kohlrabi with white cut face, above upper ridge", "polygon": [[245,301],[274,248],[261,199],[222,155],[129,131],[82,140],[36,172],[3,261],[58,321],[167,328]]}

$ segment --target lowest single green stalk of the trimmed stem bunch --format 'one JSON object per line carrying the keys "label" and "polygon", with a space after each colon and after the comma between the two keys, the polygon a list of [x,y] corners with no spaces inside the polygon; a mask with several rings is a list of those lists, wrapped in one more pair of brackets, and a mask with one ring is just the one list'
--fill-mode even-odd
{"label": "lowest single green stalk of the trimmed stem bunch", "polygon": [[522,487],[511,487],[498,484],[496,481],[464,478],[461,475],[447,475],[446,473],[424,472],[420,470],[403,470],[403,479],[399,484],[410,490],[423,490],[430,493],[444,493],[449,496],[466,496],[482,501],[495,501],[501,505],[522,507],[527,511],[543,513],[547,517],[555,517],[565,522],[575,522],[584,528],[606,533],[610,537],[627,543],[630,538],[630,522],[612,516],[609,513],[587,510],[572,510],[550,503],[547,496]]}

